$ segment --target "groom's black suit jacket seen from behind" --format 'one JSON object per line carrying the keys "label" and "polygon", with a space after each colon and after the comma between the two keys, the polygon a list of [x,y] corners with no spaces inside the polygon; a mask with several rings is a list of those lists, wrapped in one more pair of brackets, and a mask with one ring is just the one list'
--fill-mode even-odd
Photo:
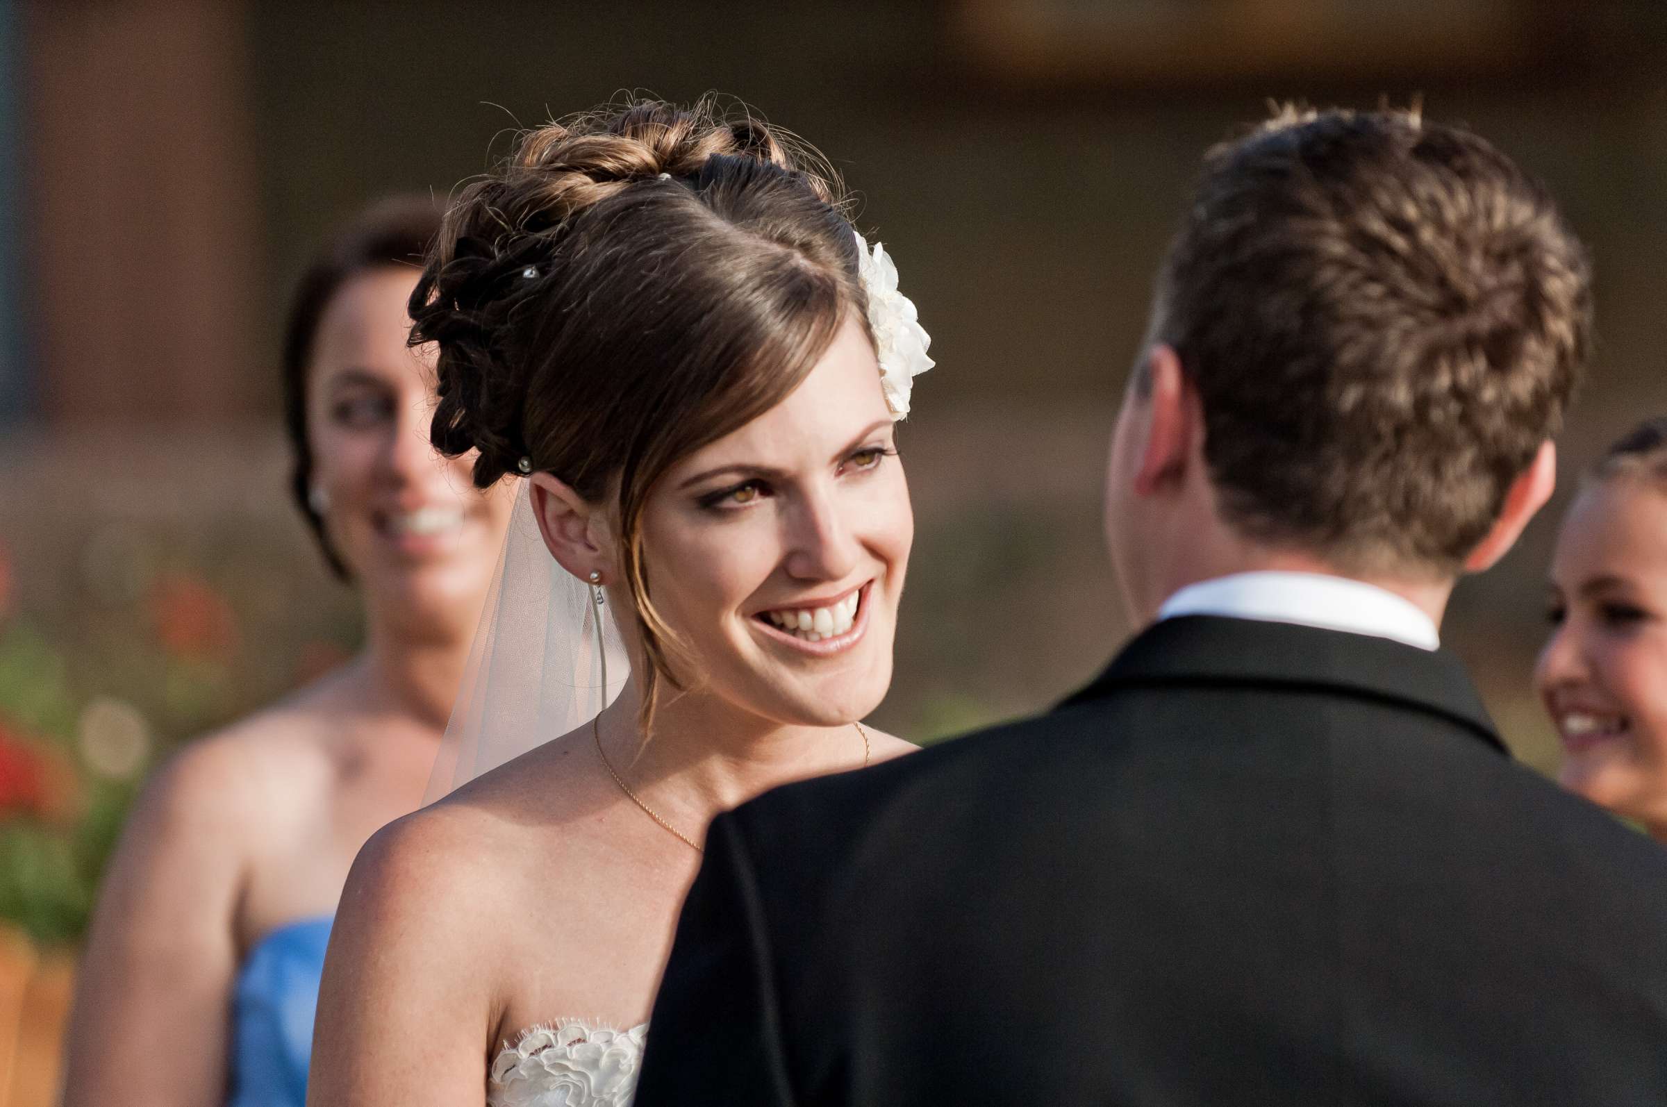
{"label": "groom's black suit jacket seen from behind", "polygon": [[1189,617],[712,824],[638,1107],[1667,1104],[1667,854],[1459,664]]}

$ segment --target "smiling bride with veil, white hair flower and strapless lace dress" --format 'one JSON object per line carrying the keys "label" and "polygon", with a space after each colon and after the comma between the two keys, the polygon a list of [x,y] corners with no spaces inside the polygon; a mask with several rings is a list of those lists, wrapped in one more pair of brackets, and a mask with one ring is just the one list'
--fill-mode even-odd
{"label": "smiling bride with veil, white hair flower and strapless lace dress", "polygon": [[860,722],[932,365],[895,280],[817,155],[710,102],[547,125],[460,195],[412,297],[433,442],[527,495],[437,779],[550,740],[358,855],[310,1104],[628,1104],[710,817],[914,749]]}

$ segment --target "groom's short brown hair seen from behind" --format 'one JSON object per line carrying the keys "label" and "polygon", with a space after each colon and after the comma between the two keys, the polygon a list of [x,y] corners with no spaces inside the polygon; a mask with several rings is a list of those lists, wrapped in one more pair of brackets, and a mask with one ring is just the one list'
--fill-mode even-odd
{"label": "groom's short brown hair seen from behind", "polygon": [[1547,192],[1477,135],[1287,110],[1207,155],[1152,338],[1240,532],[1450,574],[1560,427],[1590,300]]}

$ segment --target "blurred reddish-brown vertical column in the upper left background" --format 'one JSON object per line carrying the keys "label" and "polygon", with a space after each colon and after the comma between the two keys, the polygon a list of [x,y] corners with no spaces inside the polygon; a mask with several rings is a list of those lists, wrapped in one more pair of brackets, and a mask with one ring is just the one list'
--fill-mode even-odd
{"label": "blurred reddish-brown vertical column in the upper left background", "polygon": [[237,0],[22,7],[25,317],[57,423],[265,415],[263,283]]}

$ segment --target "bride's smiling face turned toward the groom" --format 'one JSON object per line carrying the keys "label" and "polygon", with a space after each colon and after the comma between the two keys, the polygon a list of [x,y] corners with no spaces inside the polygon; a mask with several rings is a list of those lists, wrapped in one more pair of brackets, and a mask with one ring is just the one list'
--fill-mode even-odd
{"label": "bride's smiling face turned toward the groom", "polygon": [[702,690],[782,724],[874,710],[914,512],[860,323],[847,318],[785,400],[675,463],[642,538],[653,607]]}

